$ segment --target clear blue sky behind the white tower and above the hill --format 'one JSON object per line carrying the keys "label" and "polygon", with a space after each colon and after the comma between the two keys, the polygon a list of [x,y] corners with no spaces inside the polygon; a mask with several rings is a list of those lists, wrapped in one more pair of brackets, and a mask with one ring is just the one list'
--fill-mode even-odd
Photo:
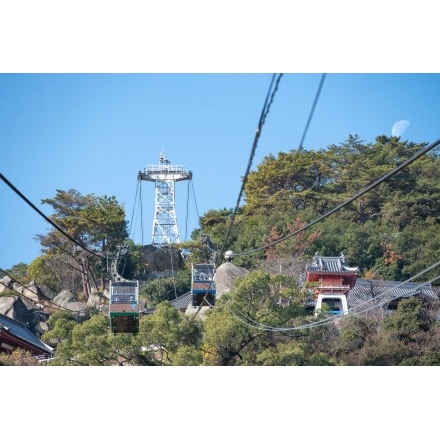
{"label": "clear blue sky behind the white tower and above the hill", "polygon": [[[321,78],[283,75],[252,169],[268,154],[299,146]],[[271,79],[270,73],[1,74],[1,173],[46,215],[52,211],[41,199],[72,188],[114,195],[131,220],[139,208],[137,173],[158,164],[164,151],[193,173],[189,200],[188,182],[176,183],[179,233],[189,239],[197,213],[235,206]],[[401,120],[409,122],[402,139],[434,142],[439,97],[438,74],[329,73],[304,148],[339,144],[349,134],[374,142]],[[130,238],[149,244],[153,183],[142,182],[142,196],[144,236],[136,211]],[[0,198],[0,267],[29,264],[41,253],[35,235],[50,225],[3,181]]]}

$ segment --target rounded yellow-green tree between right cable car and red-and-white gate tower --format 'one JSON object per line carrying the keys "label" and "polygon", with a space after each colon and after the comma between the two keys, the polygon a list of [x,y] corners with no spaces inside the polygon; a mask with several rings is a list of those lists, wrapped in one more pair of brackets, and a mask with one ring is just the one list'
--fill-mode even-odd
{"label": "rounded yellow-green tree between right cable car and red-and-white gate tower", "polygon": [[[295,281],[263,271],[239,277],[203,322],[206,365],[255,365],[257,354],[276,347],[283,336],[275,330],[293,326],[306,315],[304,297]],[[264,360],[261,360],[264,362]]]}

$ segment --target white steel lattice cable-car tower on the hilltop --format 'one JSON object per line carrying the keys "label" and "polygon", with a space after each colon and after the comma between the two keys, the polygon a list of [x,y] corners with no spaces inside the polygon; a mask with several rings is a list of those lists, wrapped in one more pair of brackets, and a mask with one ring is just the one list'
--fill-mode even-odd
{"label": "white steel lattice cable-car tower on the hilltop", "polygon": [[159,165],[147,165],[144,172],[139,171],[138,180],[155,183],[156,202],[154,208],[153,231],[151,244],[168,246],[180,243],[175,209],[175,183],[181,180],[191,180],[191,171],[186,171],[182,165],[171,165],[162,152]]}

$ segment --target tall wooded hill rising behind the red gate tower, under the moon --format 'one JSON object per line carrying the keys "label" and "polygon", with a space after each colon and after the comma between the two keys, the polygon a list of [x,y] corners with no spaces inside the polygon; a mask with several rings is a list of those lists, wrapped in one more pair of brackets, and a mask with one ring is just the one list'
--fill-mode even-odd
{"label": "tall wooded hill rising behind the red gate tower, under the moon", "polygon": [[[379,136],[373,145],[349,136],[321,150],[266,157],[245,186],[245,203],[226,247],[256,260],[338,255],[359,266],[365,278],[405,280],[440,259],[438,151],[418,158],[324,221],[264,252],[268,245],[315,221],[402,164],[427,144]],[[203,230],[222,241],[224,211],[208,212]],[[432,274],[430,274],[432,275]],[[429,279],[429,278],[427,278]]]}

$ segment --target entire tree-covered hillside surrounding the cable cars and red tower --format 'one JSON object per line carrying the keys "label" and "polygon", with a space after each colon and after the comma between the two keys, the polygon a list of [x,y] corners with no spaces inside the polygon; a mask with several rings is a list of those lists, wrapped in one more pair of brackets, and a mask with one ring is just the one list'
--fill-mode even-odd
{"label": "entire tree-covered hillside surrounding the cable cars and red tower", "polygon": [[[246,176],[237,211],[225,207],[201,216],[192,240],[180,244],[191,256],[175,268],[174,276],[145,280],[141,295],[156,311],[142,317],[139,335],[110,334],[108,318],[100,313],[79,324],[57,312],[43,335],[56,347],[51,364],[440,365],[436,304],[411,298],[385,318],[356,316],[337,325],[311,325],[319,318],[305,309],[301,289],[301,274],[316,252],[343,252],[366,279],[405,281],[440,261],[436,149],[336,209],[426,145],[386,136],[365,144],[349,136],[340,145],[264,158]],[[101,257],[127,243],[121,271],[142,279],[140,246],[128,239],[118,201],[57,190],[43,203],[53,207],[51,218],[76,244],[54,228],[39,237],[41,257],[10,273],[22,282],[69,289],[86,300],[92,289],[100,291],[108,283]],[[316,221],[330,211],[332,215]],[[176,289],[179,294],[189,291],[191,262],[207,258],[201,233],[217,249],[233,250],[234,263],[250,273],[237,280],[234,291],[222,296],[206,319],[192,320],[169,300]],[[418,282],[437,274],[434,268]]]}

